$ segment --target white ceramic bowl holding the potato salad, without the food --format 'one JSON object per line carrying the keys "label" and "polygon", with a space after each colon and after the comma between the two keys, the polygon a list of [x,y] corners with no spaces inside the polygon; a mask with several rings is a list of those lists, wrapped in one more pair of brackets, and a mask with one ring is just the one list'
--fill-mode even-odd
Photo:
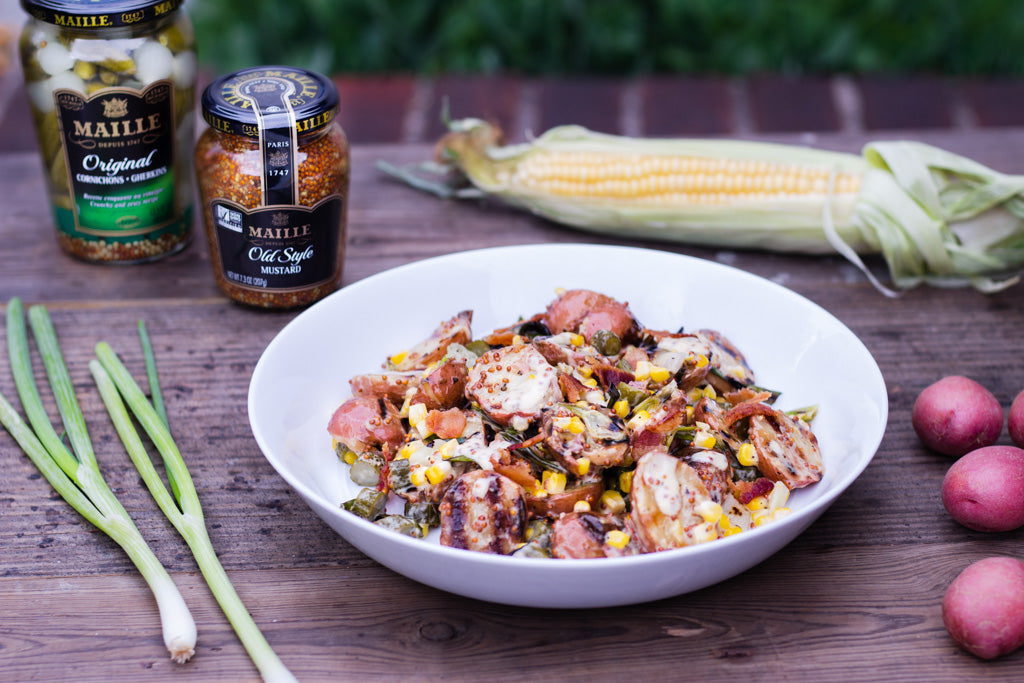
{"label": "white ceramic bowl holding the potato salad, without the food", "polygon": [[[627,301],[644,325],[713,328],[745,354],[782,409],[817,404],[813,428],[825,475],[794,492],[793,514],[712,543],[649,555],[545,560],[446,548],[343,511],[358,492],[327,424],[348,379],[473,310],[477,335],[543,310],[556,288]],[[663,251],[538,245],[468,251],[411,263],[349,285],[295,317],[260,357],[249,387],[253,434],[273,468],[338,533],[381,564],[460,595],[534,607],[644,602],[732,578],[780,550],[864,470],[885,431],[882,374],[843,324],[761,278]]]}

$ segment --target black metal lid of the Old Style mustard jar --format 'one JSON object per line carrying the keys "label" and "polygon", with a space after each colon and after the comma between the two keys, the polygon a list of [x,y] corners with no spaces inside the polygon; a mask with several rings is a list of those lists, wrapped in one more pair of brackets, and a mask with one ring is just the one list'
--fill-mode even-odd
{"label": "black metal lid of the Old Style mustard jar", "polygon": [[222,76],[203,91],[203,118],[216,130],[259,136],[251,90],[289,91],[288,102],[300,135],[321,130],[338,114],[338,88],[331,79],[295,67],[251,67]]}

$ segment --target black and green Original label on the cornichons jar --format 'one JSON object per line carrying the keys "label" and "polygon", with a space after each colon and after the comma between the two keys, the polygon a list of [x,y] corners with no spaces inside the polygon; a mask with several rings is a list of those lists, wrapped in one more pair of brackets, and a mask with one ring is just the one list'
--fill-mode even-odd
{"label": "black and green Original label on the cornichons jar", "polygon": [[77,231],[141,234],[174,221],[174,87],[54,92]]}

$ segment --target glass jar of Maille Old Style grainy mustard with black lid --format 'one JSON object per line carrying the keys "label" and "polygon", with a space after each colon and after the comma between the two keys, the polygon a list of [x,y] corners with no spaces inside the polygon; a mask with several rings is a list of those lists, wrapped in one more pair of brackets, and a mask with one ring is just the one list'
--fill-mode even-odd
{"label": "glass jar of Maille Old Style grainy mustard with black lid", "polygon": [[294,308],[341,284],[349,148],[338,91],[313,72],[257,67],[203,92],[208,128],[195,166],[220,290],[244,304]]}

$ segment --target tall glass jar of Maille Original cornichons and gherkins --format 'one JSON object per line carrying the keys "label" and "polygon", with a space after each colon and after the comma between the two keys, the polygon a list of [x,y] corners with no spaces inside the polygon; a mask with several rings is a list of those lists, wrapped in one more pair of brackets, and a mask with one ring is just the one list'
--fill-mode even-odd
{"label": "tall glass jar of Maille Original cornichons and gherkins", "polygon": [[19,51],[60,246],[137,263],[188,243],[196,49],[183,0],[20,0]]}

